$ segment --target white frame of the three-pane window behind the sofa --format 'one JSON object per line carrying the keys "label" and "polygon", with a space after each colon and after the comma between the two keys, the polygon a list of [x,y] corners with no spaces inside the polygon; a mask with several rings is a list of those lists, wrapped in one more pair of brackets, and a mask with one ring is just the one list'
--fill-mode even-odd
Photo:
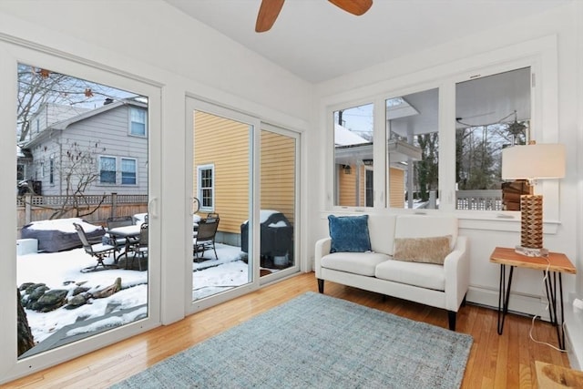
{"label": "white frame of the three-pane window behind the sofa", "polygon": [[[404,96],[414,92],[437,87],[439,89],[439,211],[453,212],[461,220],[468,220],[466,227],[476,228],[500,228],[500,222],[514,222],[520,220],[519,211],[499,210],[456,210],[455,209],[455,84],[475,77],[486,77],[520,67],[530,67],[534,75],[535,85],[531,90],[531,138],[539,143],[555,143],[558,141],[558,97],[557,97],[557,40],[555,36],[544,36],[531,41],[519,43],[513,46],[498,48],[463,60],[453,61],[444,66],[435,66],[420,70],[402,77],[386,79],[353,91],[347,98],[346,93],[339,93],[323,97],[322,123],[325,128],[326,141],[326,211],[364,211],[371,210],[363,207],[339,207],[334,205],[334,182],[332,165],[334,160],[333,131],[331,128],[334,111],[347,107],[362,105],[364,101],[375,103],[375,134],[377,126],[384,126],[384,112],[379,107],[384,107],[384,99]],[[543,81],[544,80],[544,81]],[[378,118],[378,119],[377,119]],[[378,121],[377,121],[378,120]],[[376,142],[374,146],[374,159],[384,158],[384,141]],[[383,169],[386,170],[386,169]],[[379,171],[380,173],[380,171]],[[384,177],[375,174],[374,187],[379,186],[379,181],[384,183]],[[535,189],[536,193],[545,197],[544,223],[545,231],[556,233],[560,224],[559,218],[559,182],[550,179],[540,181]],[[375,190],[376,191],[376,190]],[[379,209],[377,203],[383,204],[386,199],[386,188],[382,193],[375,193],[375,210]],[[378,201],[379,199],[383,201]],[[384,204],[379,210],[389,211]],[[434,210],[399,210],[399,212],[423,212],[431,213]],[[472,220],[492,220],[493,222]],[[519,226],[518,226],[519,227]],[[508,228],[508,227],[505,227]],[[512,227],[515,229],[515,227]]]}

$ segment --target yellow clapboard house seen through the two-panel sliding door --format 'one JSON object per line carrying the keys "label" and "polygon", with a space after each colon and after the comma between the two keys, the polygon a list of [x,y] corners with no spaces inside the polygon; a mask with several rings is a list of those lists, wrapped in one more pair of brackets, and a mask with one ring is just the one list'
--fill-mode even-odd
{"label": "yellow clapboard house seen through the two-panel sliding door", "polygon": [[[193,196],[202,214],[220,215],[221,241],[240,244],[249,219],[249,125],[196,111]],[[295,142],[261,130],[261,210],[277,210],[294,222]]]}

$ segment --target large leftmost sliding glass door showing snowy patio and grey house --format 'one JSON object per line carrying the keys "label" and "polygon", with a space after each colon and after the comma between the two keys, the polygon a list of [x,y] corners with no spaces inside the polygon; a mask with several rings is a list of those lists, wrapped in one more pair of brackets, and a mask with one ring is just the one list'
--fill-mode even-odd
{"label": "large leftmost sliding glass door showing snowy patio and grey house", "polygon": [[[159,220],[140,227],[159,193],[160,93],[98,65],[0,50],[0,78],[14,86],[2,111],[13,118],[2,155],[14,180],[0,190],[13,220],[0,266],[0,375],[11,378],[159,325],[159,240],[148,232]],[[110,233],[114,219],[133,241]]]}

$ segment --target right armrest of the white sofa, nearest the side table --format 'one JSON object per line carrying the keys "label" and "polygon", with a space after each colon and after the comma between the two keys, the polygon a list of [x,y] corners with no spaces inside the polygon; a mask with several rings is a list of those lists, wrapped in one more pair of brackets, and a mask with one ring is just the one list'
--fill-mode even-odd
{"label": "right armrest of the white sofa, nearest the side table", "polygon": [[468,245],[467,237],[458,236],[454,250],[445,257],[445,309],[448,311],[457,312],[469,287]]}

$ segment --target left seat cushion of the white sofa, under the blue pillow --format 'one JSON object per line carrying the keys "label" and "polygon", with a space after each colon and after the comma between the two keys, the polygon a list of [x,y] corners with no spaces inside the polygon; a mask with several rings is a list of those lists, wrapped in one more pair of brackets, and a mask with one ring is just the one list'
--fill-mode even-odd
{"label": "left seat cushion of the white sofa, under the blue pillow", "polygon": [[322,268],[373,277],[376,265],[389,260],[388,255],[378,252],[334,252],[323,256],[320,263]]}

